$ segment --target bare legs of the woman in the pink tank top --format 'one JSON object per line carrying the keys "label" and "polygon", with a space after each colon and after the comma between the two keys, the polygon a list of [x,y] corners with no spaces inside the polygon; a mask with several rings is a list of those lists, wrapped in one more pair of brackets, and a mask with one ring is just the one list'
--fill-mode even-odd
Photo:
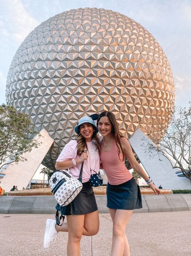
{"label": "bare legs of the woman in the pink tank top", "polygon": [[109,212],[113,221],[111,256],[130,256],[129,244],[125,230],[132,214],[132,210],[109,209]]}

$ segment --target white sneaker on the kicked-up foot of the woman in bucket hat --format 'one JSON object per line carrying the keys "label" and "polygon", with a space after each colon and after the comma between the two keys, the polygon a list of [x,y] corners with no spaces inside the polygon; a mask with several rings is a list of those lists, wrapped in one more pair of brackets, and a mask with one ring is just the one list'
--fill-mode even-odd
{"label": "white sneaker on the kicked-up foot of the woman in bucket hat", "polygon": [[46,219],[46,227],[44,232],[44,249],[48,249],[50,247],[50,243],[54,243],[53,238],[58,234],[55,229],[56,221],[54,219]]}

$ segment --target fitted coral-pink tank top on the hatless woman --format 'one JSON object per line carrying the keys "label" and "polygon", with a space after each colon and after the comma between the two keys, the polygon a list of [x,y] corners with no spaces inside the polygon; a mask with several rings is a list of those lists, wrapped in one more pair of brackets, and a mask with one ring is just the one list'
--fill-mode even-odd
{"label": "fitted coral-pink tank top on the hatless woman", "polygon": [[115,140],[110,151],[103,151],[102,143],[100,146],[100,160],[109,184],[119,185],[132,179],[132,174],[127,170],[125,161],[122,160],[123,155],[121,153],[119,158],[118,147]]}

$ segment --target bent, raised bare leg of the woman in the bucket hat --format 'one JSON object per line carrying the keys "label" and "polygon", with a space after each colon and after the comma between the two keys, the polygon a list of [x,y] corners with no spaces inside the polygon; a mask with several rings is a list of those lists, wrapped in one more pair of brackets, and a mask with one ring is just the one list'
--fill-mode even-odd
{"label": "bent, raised bare leg of the woman in the bucket hat", "polygon": [[[55,225],[57,232],[68,232],[67,222],[64,222],[62,226]],[[93,236],[99,231],[99,214],[98,211],[85,214],[84,217],[84,236]]]}

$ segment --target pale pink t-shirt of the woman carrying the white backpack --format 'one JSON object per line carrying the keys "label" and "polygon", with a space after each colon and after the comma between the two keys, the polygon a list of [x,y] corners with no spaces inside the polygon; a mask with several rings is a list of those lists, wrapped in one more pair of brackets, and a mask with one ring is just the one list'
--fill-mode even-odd
{"label": "pale pink t-shirt of the woman carrying the white backpack", "polygon": [[[99,160],[99,151],[96,149],[97,145],[96,142],[91,141],[87,142],[88,146],[88,159],[84,161],[84,167],[83,167],[83,172],[82,172],[82,182],[87,182],[90,179],[90,168],[94,170],[95,172],[99,172],[99,165],[100,165],[100,160]],[[77,140],[71,140],[69,143],[65,145],[63,150],[61,151],[57,162],[62,162],[65,160],[71,160],[73,158],[79,157],[77,155]],[[81,163],[77,166],[73,166],[68,169],[68,171],[76,178],[79,178],[80,175],[80,168],[81,168]],[[93,174],[93,172],[92,172]]]}

